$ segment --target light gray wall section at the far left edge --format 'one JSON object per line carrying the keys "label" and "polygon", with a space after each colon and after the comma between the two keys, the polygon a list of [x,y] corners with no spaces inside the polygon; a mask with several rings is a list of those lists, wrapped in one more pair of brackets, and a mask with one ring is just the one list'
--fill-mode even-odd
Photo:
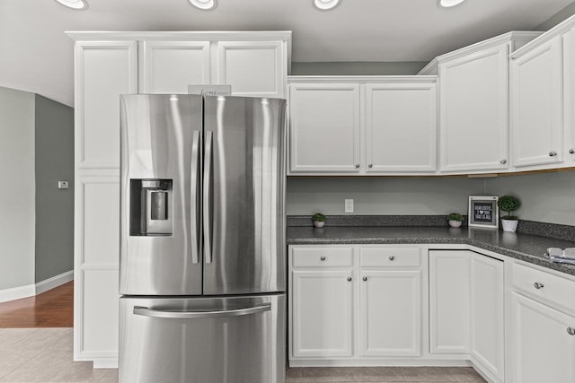
{"label": "light gray wall section at the far left edge", "polygon": [[0,290],[34,283],[34,95],[0,87]]}

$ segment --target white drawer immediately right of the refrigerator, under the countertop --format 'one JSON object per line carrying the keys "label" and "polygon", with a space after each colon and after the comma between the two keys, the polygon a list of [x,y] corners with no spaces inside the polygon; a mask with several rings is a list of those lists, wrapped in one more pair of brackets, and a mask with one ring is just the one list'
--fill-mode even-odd
{"label": "white drawer immediately right of the refrigerator, under the countertop", "polygon": [[294,248],[294,267],[330,267],[353,265],[353,248]]}

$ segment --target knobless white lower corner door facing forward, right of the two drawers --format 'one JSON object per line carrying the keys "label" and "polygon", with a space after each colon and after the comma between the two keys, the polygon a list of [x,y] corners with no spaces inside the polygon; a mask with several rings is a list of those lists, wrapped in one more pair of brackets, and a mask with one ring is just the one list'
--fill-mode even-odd
{"label": "knobless white lower corner door facing forward, right of the two drawers", "polygon": [[470,253],[429,251],[430,353],[469,353]]}

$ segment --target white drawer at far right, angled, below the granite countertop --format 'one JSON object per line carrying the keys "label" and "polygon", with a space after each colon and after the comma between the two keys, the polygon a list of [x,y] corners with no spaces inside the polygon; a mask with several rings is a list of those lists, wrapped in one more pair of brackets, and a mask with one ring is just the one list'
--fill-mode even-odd
{"label": "white drawer at far right, angled, below the granite countertop", "polygon": [[571,311],[575,308],[575,281],[561,276],[513,264],[513,287],[535,300],[558,304]]}

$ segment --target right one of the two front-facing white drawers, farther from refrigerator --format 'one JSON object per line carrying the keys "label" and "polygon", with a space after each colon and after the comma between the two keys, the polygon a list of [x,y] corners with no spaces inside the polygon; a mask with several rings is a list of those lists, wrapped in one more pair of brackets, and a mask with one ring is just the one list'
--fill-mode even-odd
{"label": "right one of the two front-facing white drawers, farther from refrigerator", "polygon": [[372,267],[419,267],[420,248],[361,248],[359,265]]}

